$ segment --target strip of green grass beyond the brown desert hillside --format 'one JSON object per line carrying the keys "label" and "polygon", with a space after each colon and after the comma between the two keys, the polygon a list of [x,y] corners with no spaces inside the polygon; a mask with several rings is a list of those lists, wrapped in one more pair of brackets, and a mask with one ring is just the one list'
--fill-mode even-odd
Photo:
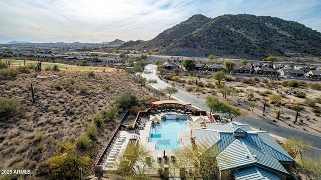
{"label": "strip of green grass beyond the brown desert hillside", "polygon": [[[7,59],[10,61],[11,65],[14,66],[19,66],[19,65],[24,65],[23,60],[16,60],[16,59]],[[28,64],[35,64],[37,65],[37,60],[25,60],[26,65]],[[61,63],[55,63],[55,62],[41,62],[41,67],[46,68],[48,66],[54,66],[58,65],[58,68],[61,70],[79,70],[79,71],[115,71],[115,68],[109,68],[109,67],[97,67],[97,66],[92,66],[92,65],[85,65],[85,66],[78,66],[78,65],[68,65],[68,64],[61,64]]]}

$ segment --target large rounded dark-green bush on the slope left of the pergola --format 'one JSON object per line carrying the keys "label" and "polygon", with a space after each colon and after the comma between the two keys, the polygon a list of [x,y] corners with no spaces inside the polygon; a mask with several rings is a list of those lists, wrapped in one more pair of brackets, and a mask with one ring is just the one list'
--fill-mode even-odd
{"label": "large rounded dark-green bush on the slope left of the pergola", "polygon": [[128,109],[133,105],[137,105],[139,103],[139,98],[129,90],[126,90],[115,98],[115,103],[119,104],[122,108]]}

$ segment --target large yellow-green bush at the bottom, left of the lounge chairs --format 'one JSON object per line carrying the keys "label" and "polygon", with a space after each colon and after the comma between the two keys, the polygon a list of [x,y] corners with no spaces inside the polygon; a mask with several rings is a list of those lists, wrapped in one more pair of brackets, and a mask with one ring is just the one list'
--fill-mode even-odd
{"label": "large yellow-green bush at the bottom, left of the lounge chairs", "polygon": [[56,152],[48,159],[48,164],[52,169],[50,177],[53,179],[57,177],[59,179],[78,179],[79,167],[86,171],[90,158],[88,155],[79,153],[75,147],[76,145],[70,142],[59,144]]}

